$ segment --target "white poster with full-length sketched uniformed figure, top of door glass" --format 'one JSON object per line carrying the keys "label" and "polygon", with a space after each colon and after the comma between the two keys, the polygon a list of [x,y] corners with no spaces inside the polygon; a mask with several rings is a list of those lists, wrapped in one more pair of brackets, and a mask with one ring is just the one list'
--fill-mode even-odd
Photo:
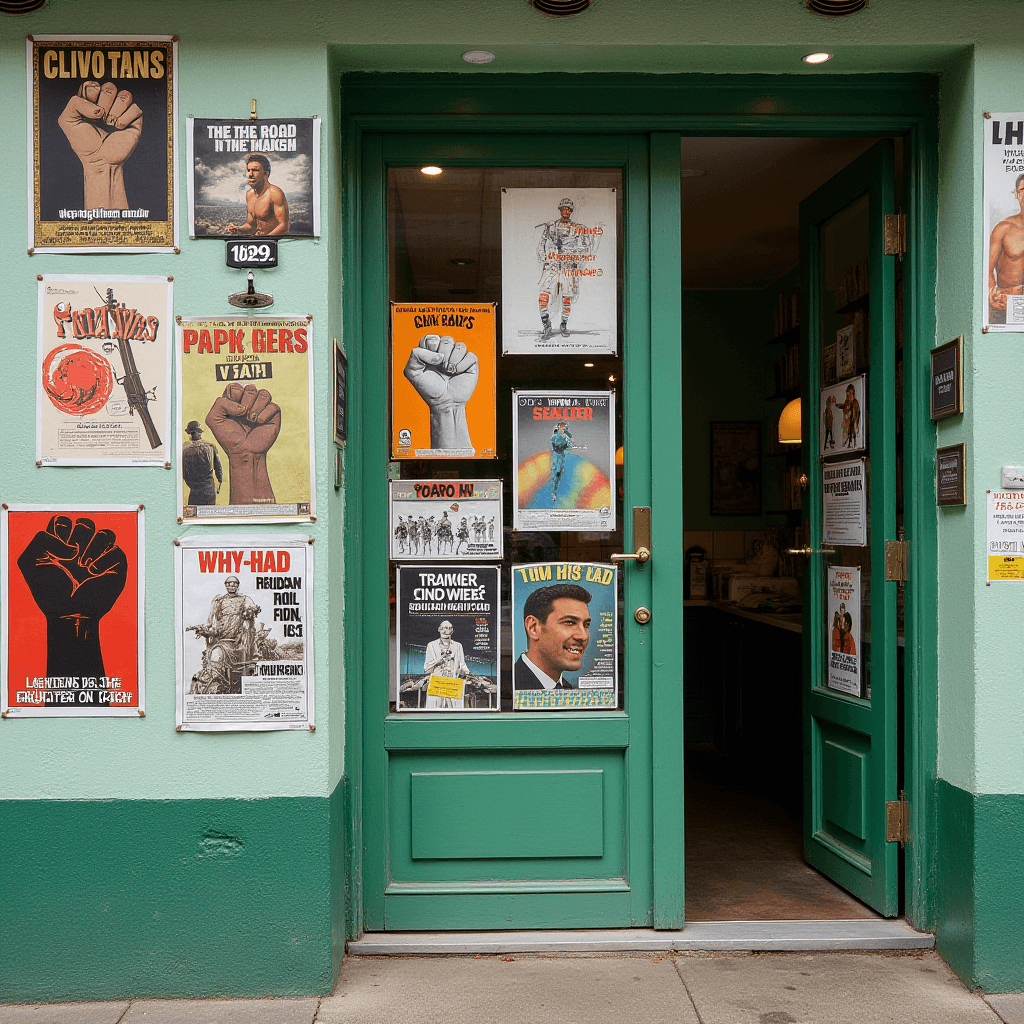
{"label": "white poster with full-length sketched uniformed figure, top of door glass", "polygon": [[617,188],[502,189],[502,352],[617,350]]}

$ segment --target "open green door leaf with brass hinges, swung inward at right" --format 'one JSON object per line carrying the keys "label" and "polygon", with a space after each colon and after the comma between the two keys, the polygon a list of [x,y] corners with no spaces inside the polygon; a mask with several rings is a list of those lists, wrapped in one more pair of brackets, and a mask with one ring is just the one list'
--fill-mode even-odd
{"label": "open green door leaf with brass hinges, swung inward at right", "polygon": [[[884,140],[800,209],[804,503],[804,850],[880,913],[898,911],[895,261],[893,144]],[[829,394],[834,397],[828,402]]]}

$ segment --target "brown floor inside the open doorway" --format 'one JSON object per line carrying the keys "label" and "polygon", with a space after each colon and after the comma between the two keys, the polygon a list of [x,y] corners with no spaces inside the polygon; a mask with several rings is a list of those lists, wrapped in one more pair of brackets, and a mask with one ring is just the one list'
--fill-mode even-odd
{"label": "brown floor inside the open doorway", "polygon": [[787,807],[763,792],[771,778],[780,781],[771,765],[740,765],[713,748],[687,746],[687,922],[881,920],[804,862],[801,817],[792,806],[799,791],[779,786],[796,797]]}

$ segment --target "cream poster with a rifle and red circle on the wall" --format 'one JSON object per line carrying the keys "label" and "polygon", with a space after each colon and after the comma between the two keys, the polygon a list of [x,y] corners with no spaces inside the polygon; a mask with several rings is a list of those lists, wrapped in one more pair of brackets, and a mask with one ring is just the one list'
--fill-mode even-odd
{"label": "cream poster with a rifle and red circle on the wall", "polygon": [[49,273],[38,294],[38,465],[169,466],[170,280]]}

